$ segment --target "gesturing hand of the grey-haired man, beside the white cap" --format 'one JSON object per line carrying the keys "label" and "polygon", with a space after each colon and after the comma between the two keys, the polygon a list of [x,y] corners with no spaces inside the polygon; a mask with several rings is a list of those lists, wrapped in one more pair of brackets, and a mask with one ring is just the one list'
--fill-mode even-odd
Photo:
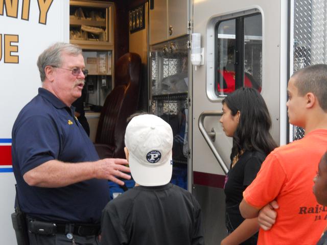
{"label": "gesturing hand of the grey-haired man, beside the white cap", "polygon": [[124,185],[124,182],[116,177],[129,180],[130,175],[123,172],[130,173],[129,167],[124,165],[128,164],[126,159],[120,158],[105,158],[96,162],[96,176],[97,179],[111,180],[119,185]]}

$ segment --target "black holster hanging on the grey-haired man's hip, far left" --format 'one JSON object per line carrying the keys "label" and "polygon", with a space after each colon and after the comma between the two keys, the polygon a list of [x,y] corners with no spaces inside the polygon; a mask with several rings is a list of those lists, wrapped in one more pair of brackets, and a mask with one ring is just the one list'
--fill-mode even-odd
{"label": "black holster hanging on the grey-haired man's hip, far left", "polygon": [[25,213],[20,211],[20,209],[16,209],[11,214],[11,220],[16,234],[17,245],[30,245]]}

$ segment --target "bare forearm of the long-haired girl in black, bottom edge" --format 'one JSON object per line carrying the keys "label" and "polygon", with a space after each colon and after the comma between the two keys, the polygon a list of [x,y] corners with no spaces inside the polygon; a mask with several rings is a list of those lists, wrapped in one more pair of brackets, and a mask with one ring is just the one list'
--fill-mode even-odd
{"label": "bare forearm of the long-haired girl in black, bottom edge", "polygon": [[259,230],[258,218],[245,219],[238,228],[221,241],[221,245],[238,245]]}

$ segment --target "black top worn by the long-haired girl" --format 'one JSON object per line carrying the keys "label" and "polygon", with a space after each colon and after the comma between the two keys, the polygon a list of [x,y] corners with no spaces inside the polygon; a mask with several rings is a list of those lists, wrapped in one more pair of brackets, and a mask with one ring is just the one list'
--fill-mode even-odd
{"label": "black top worn by the long-haired girl", "polygon": [[[255,179],[265,158],[266,155],[263,153],[246,151],[226,175],[224,192],[226,195],[226,227],[228,233],[233,232],[244,221],[239,209],[243,199],[243,191]],[[257,240],[258,233],[241,244],[256,244]]]}

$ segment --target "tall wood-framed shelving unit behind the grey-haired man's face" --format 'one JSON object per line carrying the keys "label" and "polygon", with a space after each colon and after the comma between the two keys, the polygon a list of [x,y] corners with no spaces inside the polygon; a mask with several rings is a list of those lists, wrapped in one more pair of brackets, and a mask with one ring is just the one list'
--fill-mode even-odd
{"label": "tall wood-framed shelving unit behind the grey-haired man's face", "polygon": [[85,79],[83,92],[86,94],[85,111],[99,111],[114,84],[114,4],[99,1],[69,2],[70,42],[83,49]]}

